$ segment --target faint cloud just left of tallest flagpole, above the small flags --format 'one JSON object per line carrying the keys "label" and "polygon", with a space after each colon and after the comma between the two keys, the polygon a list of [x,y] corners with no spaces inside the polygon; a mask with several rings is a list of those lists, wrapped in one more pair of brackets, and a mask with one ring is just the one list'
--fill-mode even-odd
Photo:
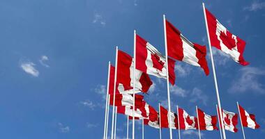
{"label": "faint cloud just left of tallest flagpole, above the small flags", "polygon": [[193,88],[190,98],[192,98],[190,99],[190,102],[195,103],[197,101],[200,101],[204,105],[206,105],[208,101],[208,97],[199,88]]}

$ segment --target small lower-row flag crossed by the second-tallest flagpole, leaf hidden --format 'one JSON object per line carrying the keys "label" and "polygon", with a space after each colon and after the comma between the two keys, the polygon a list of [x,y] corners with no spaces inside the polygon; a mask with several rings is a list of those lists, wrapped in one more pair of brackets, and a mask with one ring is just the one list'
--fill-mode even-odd
{"label": "small lower-row flag crossed by the second-tallest flagpole, leaf hidden", "polygon": [[169,128],[169,116],[171,116],[171,128],[179,129],[178,126],[178,115],[176,113],[172,113],[167,111],[164,107],[160,106],[160,121],[161,127]]}

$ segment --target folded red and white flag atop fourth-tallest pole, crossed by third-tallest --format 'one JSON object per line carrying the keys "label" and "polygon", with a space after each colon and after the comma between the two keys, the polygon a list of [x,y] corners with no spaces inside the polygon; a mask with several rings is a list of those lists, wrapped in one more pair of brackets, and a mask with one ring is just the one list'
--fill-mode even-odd
{"label": "folded red and white flag atop fourth-tallest pole, crossed by third-tallest", "polygon": [[[123,51],[118,51],[117,81],[120,93],[133,93],[133,61]],[[153,84],[148,74],[135,70],[135,92],[147,92]]]}

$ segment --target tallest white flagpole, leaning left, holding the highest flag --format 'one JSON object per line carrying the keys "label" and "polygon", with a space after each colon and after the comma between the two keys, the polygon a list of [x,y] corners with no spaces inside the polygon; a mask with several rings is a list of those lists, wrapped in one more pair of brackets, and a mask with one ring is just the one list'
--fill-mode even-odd
{"label": "tallest white flagpole, leaning left, holding the highest flag", "polygon": [[[209,49],[210,49],[210,56],[211,56],[211,65],[212,65],[212,68],[213,68],[213,79],[214,79],[214,83],[215,83],[216,97],[217,97],[217,101],[218,101],[218,111],[219,111],[219,113],[222,113],[222,111],[221,111],[222,107],[221,107],[221,102],[220,102],[220,97],[219,97],[218,83],[217,83],[217,79],[216,79],[216,75],[215,75],[215,66],[214,66],[214,62],[213,62],[213,53],[211,51],[211,41],[210,41],[209,28],[208,28],[207,19],[206,19],[206,12],[205,12],[204,3],[202,3],[202,6],[204,8],[204,20],[205,20],[206,31],[207,31],[208,42],[209,42]],[[223,127],[224,123],[222,121],[222,115],[221,114],[220,114],[220,121],[221,121],[221,125]],[[222,128],[222,135],[223,135],[223,138],[226,139],[225,129],[224,128]]]}

